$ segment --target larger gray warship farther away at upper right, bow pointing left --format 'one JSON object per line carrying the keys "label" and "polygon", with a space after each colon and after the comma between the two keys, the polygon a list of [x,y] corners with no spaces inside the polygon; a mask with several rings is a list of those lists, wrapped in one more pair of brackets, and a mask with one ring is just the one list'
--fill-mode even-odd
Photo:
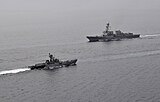
{"label": "larger gray warship farther away at upper right, bow pointing left", "polygon": [[100,36],[87,36],[89,42],[98,42],[98,41],[119,41],[121,39],[132,39],[139,38],[140,34],[133,33],[123,33],[120,30],[113,31],[110,30],[110,24],[107,23],[105,31]]}

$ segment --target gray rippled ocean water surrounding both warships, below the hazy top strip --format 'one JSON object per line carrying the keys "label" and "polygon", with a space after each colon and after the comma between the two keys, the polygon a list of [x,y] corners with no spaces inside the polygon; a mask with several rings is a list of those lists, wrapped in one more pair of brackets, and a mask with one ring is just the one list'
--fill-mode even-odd
{"label": "gray rippled ocean water surrounding both warships, below the hazy top strip", "polygon": [[[158,11],[46,14],[38,19],[38,13],[19,19],[5,15],[15,18],[0,24],[1,102],[160,101]],[[141,38],[89,43],[86,35],[100,35],[105,17],[113,30],[140,33]],[[48,53],[61,60],[77,58],[77,65],[52,71],[27,68],[44,62]]]}

